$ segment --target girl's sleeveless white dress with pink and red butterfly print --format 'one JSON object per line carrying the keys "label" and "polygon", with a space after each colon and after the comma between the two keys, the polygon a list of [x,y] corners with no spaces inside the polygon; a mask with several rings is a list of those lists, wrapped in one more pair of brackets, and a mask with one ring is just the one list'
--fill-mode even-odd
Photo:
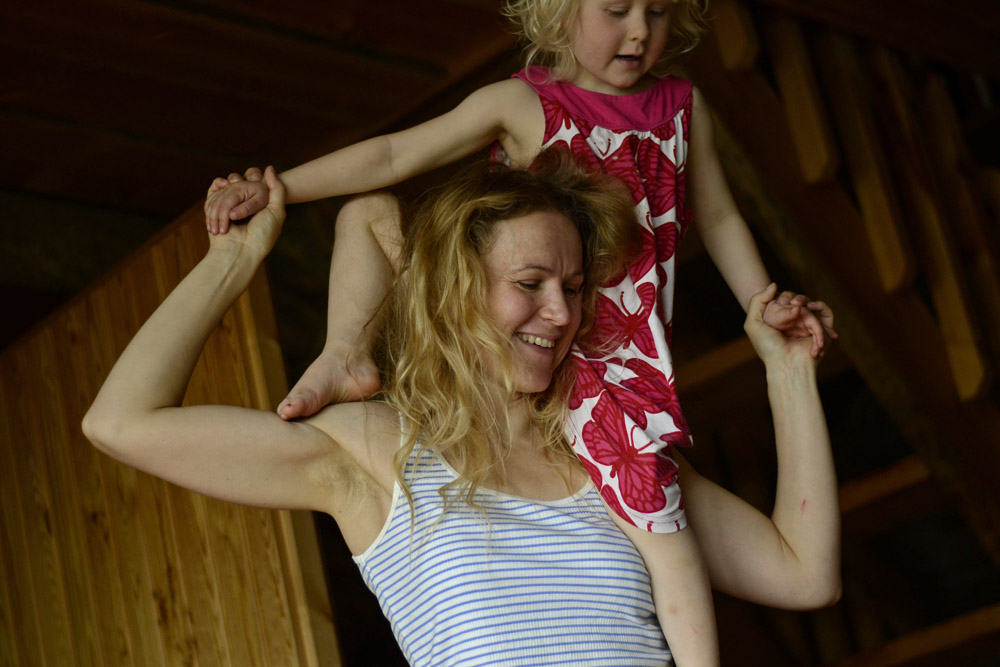
{"label": "girl's sleeveless white dress with pink and red butterfly print", "polygon": [[[641,250],[598,296],[593,340],[574,347],[567,437],[608,506],[652,532],[685,525],[670,447],[689,445],[670,357],[675,252],[691,223],[684,204],[691,85],[660,80],[623,97],[517,75],[538,92],[543,143],[564,145],[628,186]],[[631,106],[630,106],[631,105]],[[636,127],[638,129],[622,129]]]}

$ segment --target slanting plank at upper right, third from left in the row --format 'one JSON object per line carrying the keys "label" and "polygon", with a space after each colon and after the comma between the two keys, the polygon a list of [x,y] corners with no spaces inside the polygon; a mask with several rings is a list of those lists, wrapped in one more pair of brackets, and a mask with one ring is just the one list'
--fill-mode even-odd
{"label": "slanting plank at upper right, third from left in the row", "polygon": [[909,284],[914,265],[880,133],[866,103],[869,85],[844,37],[823,31],[817,52],[882,289],[893,292]]}

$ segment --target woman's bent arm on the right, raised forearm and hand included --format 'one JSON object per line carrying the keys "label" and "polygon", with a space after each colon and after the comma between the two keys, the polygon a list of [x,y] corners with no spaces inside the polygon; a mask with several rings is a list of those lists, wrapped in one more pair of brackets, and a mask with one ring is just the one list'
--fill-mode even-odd
{"label": "woman's bent arm on the right, raised forearm and hand included", "polygon": [[840,599],[837,480],[810,341],[763,322],[776,292],[772,285],[751,300],[745,326],[767,369],[778,454],[774,512],[764,516],[678,462],[713,587],[758,604],[811,609]]}

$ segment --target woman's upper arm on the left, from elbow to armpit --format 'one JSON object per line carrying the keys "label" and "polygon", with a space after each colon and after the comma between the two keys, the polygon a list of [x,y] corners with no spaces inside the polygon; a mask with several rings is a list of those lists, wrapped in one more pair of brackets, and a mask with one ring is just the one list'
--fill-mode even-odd
{"label": "woman's upper arm on the left, from elbow to armpit", "polygon": [[[327,415],[326,424],[350,421]],[[116,424],[85,424],[114,458],[184,488],[230,502],[333,513],[366,473],[331,428],[231,406],[159,408]],[[354,437],[349,428],[340,437]],[[346,444],[346,446],[345,446]]]}

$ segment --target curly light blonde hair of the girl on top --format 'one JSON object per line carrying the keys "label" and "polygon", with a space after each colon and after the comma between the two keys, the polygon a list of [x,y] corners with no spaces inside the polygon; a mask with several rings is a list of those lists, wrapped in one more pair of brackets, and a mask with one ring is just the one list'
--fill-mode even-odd
{"label": "curly light blonde hair of the girl on top", "polygon": [[[501,10],[525,43],[525,66],[544,65],[556,81],[568,81],[576,73],[576,58],[570,48],[570,33],[580,0],[506,0]],[[667,48],[654,70],[665,74],[671,60],[698,45],[705,31],[708,0],[673,0]]]}

